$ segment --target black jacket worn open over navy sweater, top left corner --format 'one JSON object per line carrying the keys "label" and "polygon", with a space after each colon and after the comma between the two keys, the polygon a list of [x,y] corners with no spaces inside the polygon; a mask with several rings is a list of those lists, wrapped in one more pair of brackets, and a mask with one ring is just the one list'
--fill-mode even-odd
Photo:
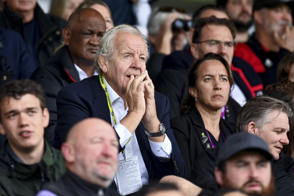
{"label": "black jacket worn open over navy sweater, top left corner", "polygon": [[[66,26],[66,20],[45,14],[37,4],[34,17],[37,19],[40,31],[40,41],[38,46],[38,57],[40,65],[45,65],[54,54],[55,49],[63,43],[62,29]],[[6,4],[0,13],[0,26],[14,30],[23,36],[22,19],[10,12]],[[23,36],[24,37],[24,36]]]}

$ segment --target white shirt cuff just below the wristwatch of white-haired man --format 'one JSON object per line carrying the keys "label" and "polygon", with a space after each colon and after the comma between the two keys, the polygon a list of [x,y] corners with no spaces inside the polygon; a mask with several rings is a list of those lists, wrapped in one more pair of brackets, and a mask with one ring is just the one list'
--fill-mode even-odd
{"label": "white shirt cuff just below the wristwatch of white-haired man", "polygon": [[171,141],[168,139],[166,134],[163,142],[152,142],[149,140],[149,144],[153,154],[157,157],[171,157]]}

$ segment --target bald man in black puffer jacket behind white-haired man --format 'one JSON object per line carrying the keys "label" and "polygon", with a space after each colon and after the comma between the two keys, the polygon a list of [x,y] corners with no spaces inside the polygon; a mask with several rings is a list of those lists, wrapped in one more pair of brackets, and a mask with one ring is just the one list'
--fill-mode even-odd
{"label": "bald man in black puffer jacket behind white-haired man", "polygon": [[37,68],[32,74],[31,79],[41,84],[46,94],[50,121],[44,138],[51,145],[57,121],[57,93],[70,83],[97,75],[94,60],[105,29],[104,18],[95,9],[84,8],[75,11],[62,31],[65,46],[56,52],[51,63]]}

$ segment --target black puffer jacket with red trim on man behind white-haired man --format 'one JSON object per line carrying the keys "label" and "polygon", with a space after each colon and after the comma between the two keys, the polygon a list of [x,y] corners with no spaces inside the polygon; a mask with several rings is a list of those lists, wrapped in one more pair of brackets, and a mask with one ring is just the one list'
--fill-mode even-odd
{"label": "black puffer jacket with red trim on man behind white-haired man", "polygon": [[31,79],[42,85],[46,94],[46,107],[49,110],[50,121],[45,128],[44,138],[53,145],[54,131],[57,122],[56,97],[58,92],[70,83],[80,81],[77,69],[74,66],[67,46],[63,46],[53,56],[55,61],[38,67],[32,74]]}

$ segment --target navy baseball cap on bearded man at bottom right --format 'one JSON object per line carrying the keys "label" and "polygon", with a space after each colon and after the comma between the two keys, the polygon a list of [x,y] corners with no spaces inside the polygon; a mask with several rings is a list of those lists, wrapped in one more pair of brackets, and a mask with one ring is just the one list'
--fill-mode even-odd
{"label": "navy baseball cap on bearded man at bottom right", "polygon": [[256,135],[242,132],[232,134],[226,139],[217,154],[216,165],[219,166],[223,161],[228,160],[244,150],[256,151],[264,155],[268,160],[273,159],[273,156],[269,152],[269,148],[263,139]]}

